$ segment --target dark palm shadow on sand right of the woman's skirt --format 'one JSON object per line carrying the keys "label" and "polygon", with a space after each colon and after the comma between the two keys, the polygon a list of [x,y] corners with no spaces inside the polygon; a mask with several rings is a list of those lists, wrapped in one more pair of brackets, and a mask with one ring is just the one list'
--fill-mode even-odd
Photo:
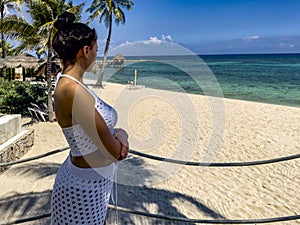
{"label": "dark palm shadow on sand right of the woman's skirt", "polygon": [[[180,217],[187,218],[176,206],[174,206],[174,201],[182,202],[183,204],[188,204],[194,208],[197,208],[199,212],[202,213],[202,216],[199,215],[201,219],[203,215],[211,218],[211,219],[226,219],[219,213],[213,211],[209,207],[205,206],[201,202],[197,201],[192,196],[188,196],[182,194],[180,192],[171,192],[164,189],[152,188],[151,186],[145,185],[147,180],[151,179],[154,175],[153,172],[149,172],[145,168],[145,162],[143,159],[138,157],[129,157],[126,161],[126,165],[119,165],[118,173],[117,173],[117,203],[118,206],[123,208],[128,208],[141,212],[149,212],[149,206],[155,209],[155,213],[164,216],[171,217]],[[133,167],[138,167],[139,171],[135,174],[132,174],[128,171],[128,169]],[[119,179],[119,176],[122,178]],[[132,177],[135,177],[132,179]],[[121,181],[120,181],[121,180]],[[138,180],[138,185],[137,184]],[[125,181],[125,182],[124,182]],[[131,185],[132,184],[132,185]],[[134,185],[135,184],[135,185]],[[111,204],[114,205],[113,201]],[[153,212],[152,212],[153,213]],[[147,218],[144,216],[136,216],[129,213],[118,212],[120,224],[147,224],[147,225],[167,225],[167,224],[195,224],[195,223],[186,223],[186,222],[176,222],[170,220],[162,220],[162,219],[153,219]],[[108,213],[108,222],[109,224],[114,224],[117,219],[117,215],[115,210],[109,209]]]}

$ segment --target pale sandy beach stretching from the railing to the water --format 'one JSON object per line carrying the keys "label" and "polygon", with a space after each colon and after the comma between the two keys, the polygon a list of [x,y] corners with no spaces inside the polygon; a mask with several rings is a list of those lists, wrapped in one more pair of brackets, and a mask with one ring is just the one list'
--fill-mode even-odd
{"label": "pale sandy beach stretching from the railing to the water", "polygon": [[[300,154],[300,108],[149,88],[128,90],[112,83],[95,91],[117,109],[117,126],[128,131],[132,150],[215,163]],[[39,122],[24,129],[34,129],[35,144],[23,158],[67,146],[56,122]],[[50,212],[55,173],[67,155],[65,151],[15,165],[0,175],[1,222]],[[190,219],[299,215],[299,160],[249,167],[198,167],[130,154],[118,166],[117,202],[124,208]],[[123,212],[118,216],[119,224],[187,224]],[[115,212],[109,210],[108,224],[115,219]],[[49,218],[24,224],[49,224]],[[300,220],[278,224],[300,224]]]}

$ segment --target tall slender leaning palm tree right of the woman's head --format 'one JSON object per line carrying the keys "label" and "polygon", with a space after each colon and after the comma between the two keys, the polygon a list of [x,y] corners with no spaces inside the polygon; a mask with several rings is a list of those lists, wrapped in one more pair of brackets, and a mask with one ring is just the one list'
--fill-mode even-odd
{"label": "tall slender leaning palm tree right of the woman's head", "polygon": [[122,11],[122,9],[126,8],[127,10],[131,10],[133,5],[134,3],[131,0],[93,0],[90,7],[86,10],[87,12],[91,13],[91,16],[89,17],[90,20],[94,20],[95,18],[99,17],[99,23],[104,21],[105,27],[108,28],[102,68],[100,76],[96,82],[96,86],[98,87],[103,88],[102,81],[111,40],[113,18],[115,19],[116,25],[119,25],[120,23],[125,24],[125,13]]}

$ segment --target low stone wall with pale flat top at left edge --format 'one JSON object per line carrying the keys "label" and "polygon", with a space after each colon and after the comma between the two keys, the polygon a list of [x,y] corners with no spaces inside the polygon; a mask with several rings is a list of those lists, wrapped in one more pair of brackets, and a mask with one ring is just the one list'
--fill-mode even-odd
{"label": "low stone wall with pale flat top at left edge", "polygon": [[[34,145],[34,131],[23,130],[5,143],[0,145],[0,163],[20,159]],[[0,167],[0,172],[9,167]]]}

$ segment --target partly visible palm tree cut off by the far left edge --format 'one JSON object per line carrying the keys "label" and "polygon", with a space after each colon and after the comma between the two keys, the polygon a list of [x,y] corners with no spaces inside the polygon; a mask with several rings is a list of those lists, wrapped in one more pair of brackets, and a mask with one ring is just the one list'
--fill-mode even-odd
{"label": "partly visible palm tree cut off by the far left edge", "polygon": [[[0,15],[1,15],[1,48],[2,48],[2,58],[6,57],[6,46],[5,46],[5,37],[2,29],[2,22],[5,16],[10,14],[10,11],[17,12],[22,15],[20,5],[22,4],[21,0],[0,0]],[[6,77],[6,68],[3,68],[3,77]]]}

